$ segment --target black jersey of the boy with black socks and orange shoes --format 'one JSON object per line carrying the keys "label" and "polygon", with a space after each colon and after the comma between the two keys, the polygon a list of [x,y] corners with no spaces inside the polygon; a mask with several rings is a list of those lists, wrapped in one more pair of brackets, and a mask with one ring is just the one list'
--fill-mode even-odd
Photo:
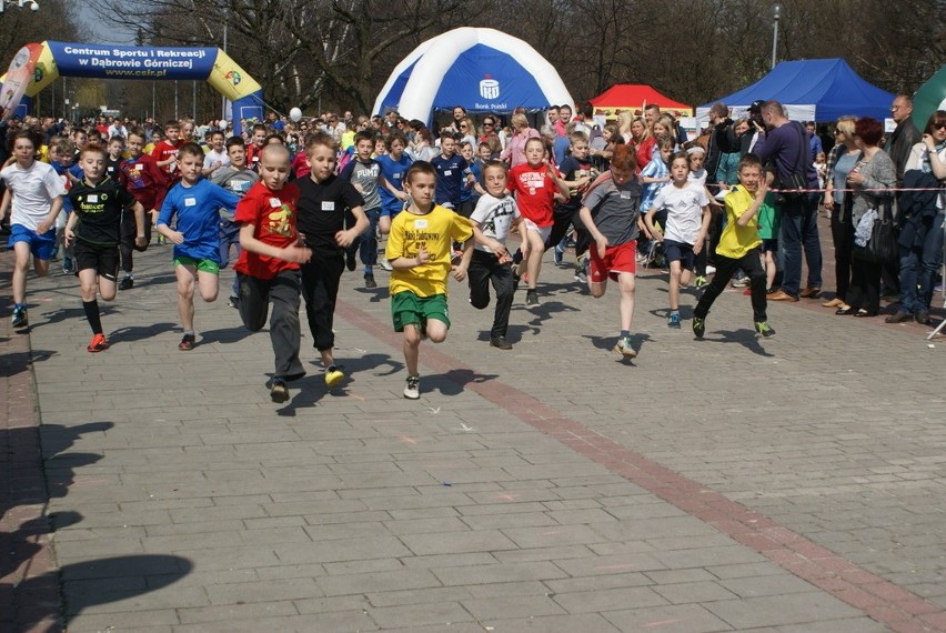
{"label": "black jersey of the boy with black socks and orange shoes", "polygon": [[117,247],[121,242],[121,217],[124,209],[137,202],[124,187],[103,178],[91,184],[77,182],[69,190],[72,212],[79,215],[76,239],[98,247]]}

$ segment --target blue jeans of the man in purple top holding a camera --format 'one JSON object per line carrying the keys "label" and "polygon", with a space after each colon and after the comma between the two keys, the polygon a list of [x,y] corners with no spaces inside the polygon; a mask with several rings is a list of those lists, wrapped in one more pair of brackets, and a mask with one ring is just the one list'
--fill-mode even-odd
{"label": "blue jeans of the man in purple top holding a camera", "polygon": [[802,251],[808,263],[808,285],[822,287],[822,244],[818,241],[818,198],[807,193],[799,200],[786,200],[781,205],[782,231],[779,250],[784,254],[785,271],[782,290],[798,297],[802,285]]}

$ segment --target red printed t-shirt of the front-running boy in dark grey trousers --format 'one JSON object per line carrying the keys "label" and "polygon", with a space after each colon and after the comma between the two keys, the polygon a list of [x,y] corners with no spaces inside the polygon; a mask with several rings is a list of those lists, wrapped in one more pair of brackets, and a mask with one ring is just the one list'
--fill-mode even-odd
{"label": "red printed t-shirt of the front-running boy in dark grey trousers", "polygon": [[[292,182],[278,191],[258,182],[236,204],[233,220],[238,224],[253,224],[254,238],[264,244],[284,249],[299,240],[295,225],[298,203],[299,188]],[[233,270],[256,279],[273,279],[284,270],[299,270],[299,264],[241,249]]]}

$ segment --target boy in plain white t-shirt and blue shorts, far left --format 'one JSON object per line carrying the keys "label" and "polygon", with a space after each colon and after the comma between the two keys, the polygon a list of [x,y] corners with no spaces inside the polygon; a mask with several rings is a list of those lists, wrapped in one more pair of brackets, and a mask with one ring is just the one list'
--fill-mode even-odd
{"label": "boy in plain white t-shirt and blue shorts, far left", "polygon": [[56,248],[56,220],[62,210],[66,190],[59,174],[48,163],[37,160],[41,138],[30,130],[13,135],[13,162],[0,170],[7,185],[0,202],[0,221],[10,217],[10,239],[13,250],[13,328],[29,325],[27,315],[27,269],[30,255],[38,277],[49,274],[49,259]]}

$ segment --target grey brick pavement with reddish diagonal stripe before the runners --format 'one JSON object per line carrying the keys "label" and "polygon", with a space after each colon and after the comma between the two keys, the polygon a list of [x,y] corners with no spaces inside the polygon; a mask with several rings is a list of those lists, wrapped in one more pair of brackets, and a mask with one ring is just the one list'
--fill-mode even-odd
{"label": "grey brick pavement with reddish diagonal stripe before the runners", "polygon": [[[627,363],[610,351],[616,297],[549,262],[512,352],[454,284],[454,328],[425,343],[407,402],[386,291],[346,274],[351,380],[328,392],[306,336],[310,375],[276,406],[269,338],[225,301],[198,302],[202,344],[177,350],[169,260],[140,258],[102,354],[84,351],[72,278],[31,281],[70,632],[946,630],[946,342],[918,326],[772,305],[763,343],[731,292],[694,341],[666,329],[665,283],[645,273]],[[32,405],[4,401],[10,469]],[[42,499],[6,494],[0,531],[42,525]],[[13,630],[60,613],[3,604],[24,614],[0,621]]]}

